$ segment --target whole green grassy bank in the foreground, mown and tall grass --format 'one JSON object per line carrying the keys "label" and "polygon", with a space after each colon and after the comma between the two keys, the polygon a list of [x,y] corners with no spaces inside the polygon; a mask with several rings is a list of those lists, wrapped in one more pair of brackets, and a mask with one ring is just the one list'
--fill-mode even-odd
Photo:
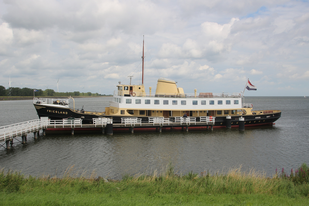
{"label": "whole green grassy bank in the foreground, mown and tall grass", "polygon": [[[77,175],[82,173],[82,175]],[[255,170],[176,174],[160,171],[123,175],[122,180],[95,178],[94,172],[68,167],[60,177],[25,176],[0,171],[1,205],[308,205],[309,184]]]}

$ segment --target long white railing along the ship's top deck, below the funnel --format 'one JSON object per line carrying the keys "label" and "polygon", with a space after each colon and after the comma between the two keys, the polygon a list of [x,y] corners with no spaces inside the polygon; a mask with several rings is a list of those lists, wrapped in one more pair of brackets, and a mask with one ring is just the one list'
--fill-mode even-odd
{"label": "long white railing along the ship's top deck, below the funnel", "polygon": [[131,96],[131,97],[165,97],[165,98],[240,98],[240,93],[186,93],[186,94],[168,94],[168,93],[148,93],[148,92],[129,92],[129,91],[114,91],[116,96]]}

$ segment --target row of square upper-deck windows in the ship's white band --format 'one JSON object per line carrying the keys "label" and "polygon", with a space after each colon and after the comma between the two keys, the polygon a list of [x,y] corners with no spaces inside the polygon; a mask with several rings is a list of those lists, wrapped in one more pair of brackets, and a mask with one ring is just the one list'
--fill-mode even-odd
{"label": "row of square upper-deck windows in the ship's white band", "polygon": [[[119,98],[115,98],[116,102],[121,103],[121,99]],[[187,104],[187,100],[163,100],[163,104],[164,105],[168,105],[169,102],[171,101],[172,105],[178,105],[178,102],[180,101],[181,105],[186,105]],[[214,101],[215,100],[209,100],[209,105],[214,105]],[[221,105],[223,104],[222,100],[217,100],[217,104]],[[131,104],[132,103],[132,99],[125,99],[125,103],[126,104]],[[142,100],[141,99],[135,99],[135,104],[141,104]],[[150,99],[145,99],[145,104],[150,104]],[[160,100],[159,99],[155,99],[154,104],[160,104]],[[198,101],[197,100],[193,100],[192,101],[193,105],[198,105]],[[200,102],[201,105],[206,105],[206,100],[201,100]],[[231,104],[231,100],[225,100],[225,104]],[[238,100],[234,100],[234,104],[239,104]]]}

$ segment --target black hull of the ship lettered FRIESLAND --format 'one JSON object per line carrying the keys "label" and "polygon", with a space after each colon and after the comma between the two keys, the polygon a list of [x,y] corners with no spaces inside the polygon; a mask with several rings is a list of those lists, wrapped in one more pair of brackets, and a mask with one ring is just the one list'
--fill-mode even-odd
{"label": "black hull of the ship lettered FRIESLAND", "polygon": [[[66,118],[76,118],[82,119],[83,124],[92,124],[93,118],[112,118],[113,123],[121,123],[121,118],[130,118],[132,116],[116,116],[116,115],[99,115],[96,112],[93,113],[81,113],[73,111],[70,108],[65,107],[56,107],[45,104],[36,104],[34,103],[38,116],[49,117],[51,120],[62,120]],[[238,127],[239,117],[244,117],[245,126],[260,126],[272,124],[281,117],[281,111],[268,114],[256,114],[256,115],[243,115],[243,116],[231,116],[231,125],[232,127]],[[139,119],[142,119],[142,122],[148,122],[148,116],[139,116]],[[197,117],[196,121],[200,121]],[[214,127],[226,127],[226,116],[215,116]]]}

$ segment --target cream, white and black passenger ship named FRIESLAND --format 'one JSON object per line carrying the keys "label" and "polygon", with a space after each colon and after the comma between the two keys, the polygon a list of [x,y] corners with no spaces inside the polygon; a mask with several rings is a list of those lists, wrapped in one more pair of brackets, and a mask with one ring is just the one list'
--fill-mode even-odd
{"label": "cream, white and black passenger ship named FRIESLAND", "polygon": [[[144,44],[144,42],[143,42]],[[144,61],[144,49],[142,61]],[[144,62],[142,63],[144,67]],[[238,127],[239,117],[244,118],[245,126],[272,125],[281,117],[281,111],[253,110],[252,103],[244,103],[243,93],[184,93],[177,82],[168,78],[159,78],[155,92],[152,87],[146,91],[144,86],[144,68],[142,68],[142,84],[132,85],[118,82],[113,92],[113,99],[105,111],[95,112],[78,110],[72,97],[67,99],[34,98],[33,104],[38,116],[50,120],[67,118],[82,119],[83,124],[92,124],[94,118],[111,118],[113,123],[121,123],[123,118],[138,118],[148,123],[151,118],[168,118],[174,122],[186,116],[202,121],[214,119],[213,127],[226,127],[226,118],[231,118],[231,127]],[[253,86],[249,80],[248,86]],[[255,87],[255,86],[253,86]],[[247,87],[248,89],[248,87]],[[251,90],[250,88],[248,90]],[[253,90],[256,90],[253,88]],[[70,101],[73,100],[73,107]]]}

